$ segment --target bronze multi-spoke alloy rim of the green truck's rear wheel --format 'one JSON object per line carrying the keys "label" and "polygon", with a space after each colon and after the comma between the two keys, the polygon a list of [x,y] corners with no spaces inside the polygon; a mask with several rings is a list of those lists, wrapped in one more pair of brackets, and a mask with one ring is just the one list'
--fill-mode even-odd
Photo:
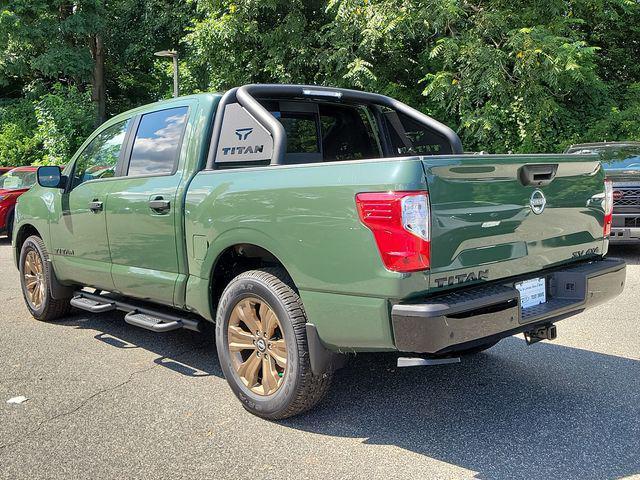
{"label": "bronze multi-spoke alloy rim of the green truck's rear wheel", "polygon": [[231,311],[228,328],[231,362],[242,382],[258,395],[271,395],[282,385],[287,345],[280,321],[264,300],[247,297]]}

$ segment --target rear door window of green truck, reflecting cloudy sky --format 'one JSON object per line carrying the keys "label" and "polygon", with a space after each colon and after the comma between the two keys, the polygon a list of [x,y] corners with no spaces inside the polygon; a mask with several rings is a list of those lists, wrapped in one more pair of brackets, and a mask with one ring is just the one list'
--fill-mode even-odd
{"label": "rear door window of green truck, reflecting cloudy sky", "polygon": [[170,108],[142,116],[127,175],[171,174],[178,163],[188,107]]}

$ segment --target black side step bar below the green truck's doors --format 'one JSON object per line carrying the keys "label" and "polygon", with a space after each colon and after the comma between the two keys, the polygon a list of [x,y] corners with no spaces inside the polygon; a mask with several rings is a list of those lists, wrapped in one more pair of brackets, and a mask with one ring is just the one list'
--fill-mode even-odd
{"label": "black side step bar below the green truck's doors", "polygon": [[92,313],[111,310],[127,312],[124,317],[125,322],[152,332],[170,332],[179,328],[186,328],[195,332],[202,331],[202,320],[161,312],[146,304],[136,304],[134,300],[125,302],[115,297],[80,291],[75,292],[75,296],[70,303],[76,308]]}

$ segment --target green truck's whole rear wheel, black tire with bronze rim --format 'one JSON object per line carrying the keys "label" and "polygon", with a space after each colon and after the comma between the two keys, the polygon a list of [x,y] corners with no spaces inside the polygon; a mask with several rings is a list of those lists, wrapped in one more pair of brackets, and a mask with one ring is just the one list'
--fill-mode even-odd
{"label": "green truck's whole rear wheel, black tire with bronze rim", "polygon": [[220,368],[249,412],[282,420],[316,405],[333,369],[314,373],[307,316],[283,268],[240,273],[225,287],[216,312]]}

